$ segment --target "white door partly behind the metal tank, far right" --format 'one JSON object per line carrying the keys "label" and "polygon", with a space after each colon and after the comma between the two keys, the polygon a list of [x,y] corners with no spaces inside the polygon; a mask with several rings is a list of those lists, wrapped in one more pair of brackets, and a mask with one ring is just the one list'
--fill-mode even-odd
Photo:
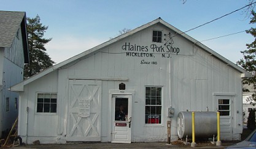
{"label": "white door partly behind the metal tank, far right", "polygon": [[217,96],[217,111],[220,112],[220,139],[232,140],[232,98]]}

